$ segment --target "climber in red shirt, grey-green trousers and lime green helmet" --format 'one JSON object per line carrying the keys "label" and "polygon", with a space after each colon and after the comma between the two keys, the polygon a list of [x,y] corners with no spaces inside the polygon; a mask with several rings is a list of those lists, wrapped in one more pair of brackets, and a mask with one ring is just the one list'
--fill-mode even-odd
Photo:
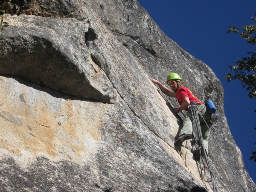
{"label": "climber in red shirt, grey-green trousers and lime green helmet", "polygon": [[[177,73],[170,73],[166,78],[166,83],[169,85],[171,90],[161,84],[159,81],[155,79],[150,80],[157,84],[160,88],[160,90],[166,94],[167,96],[176,97],[178,103],[180,104],[180,107],[175,110],[175,113],[178,113],[180,111],[186,110],[186,117],[183,121],[183,127],[180,130],[179,136],[175,137],[175,147],[181,146],[183,141],[191,139],[192,134],[192,115],[189,111],[188,107],[192,102],[196,102],[196,105],[198,107],[198,110],[201,111],[204,119],[210,119],[211,114],[207,111],[206,106],[204,103],[202,103],[196,96],[187,88],[184,87],[182,84],[182,80]],[[200,122],[203,122],[203,118],[200,119]],[[208,125],[209,126],[209,125]],[[203,142],[204,142],[204,148],[208,152],[208,139],[209,139],[209,128],[207,125],[201,125],[202,130],[202,136],[203,136]],[[197,151],[197,154],[199,151]],[[195,155],[195,154],[194,154]]]}

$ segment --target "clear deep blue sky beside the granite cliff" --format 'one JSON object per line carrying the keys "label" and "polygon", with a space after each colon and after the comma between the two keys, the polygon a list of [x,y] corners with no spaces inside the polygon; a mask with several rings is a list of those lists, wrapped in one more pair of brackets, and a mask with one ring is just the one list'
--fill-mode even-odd
{"label": "clear deep blue sky beside the granite cliff", "polygon": [[[239,81],[227,83],[224,78],[238,58],[246,57],[256,47],[234,33],[230,27],[242,29],[252,24],[255,0],[137,0],[160,29],[186,52],[207,64],[224,87],[224,110],[231,134],[243,155],[245,167],[256,183],[256,162],[248,160],[255,151],[256,99]],[[235,155],[235,154],[234,154]]]}

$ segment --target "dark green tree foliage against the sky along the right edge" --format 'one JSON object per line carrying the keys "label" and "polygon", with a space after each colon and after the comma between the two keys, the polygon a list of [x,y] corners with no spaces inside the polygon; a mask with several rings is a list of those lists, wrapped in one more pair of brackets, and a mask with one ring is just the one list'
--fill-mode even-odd
{"label": "dark green tree foliage against the sky along the right edge", "polygon": [[[227,33],[234,32],[239,34],[241,38],[244,38],[248,44],[252,44],[253,46],[256,44],[256,13],[254,17],[252,17],[253,24],[252,25],[243,25],[243,31],[240,32],[238,28],[234,26],[230,26],[230,29]],[[256,53],[250,50],[247,52],[249,56],[238,59],[235,66],[229,66],[231,71],[233,70],[235,74],[227,73],[225,77],[228,82],[230,80],[239,80],[243,87],[246,87],[246,90],[249,91],[249,97],[256,98]],[[256,112],[256,110],[254,110]],[[256,128],[254,128],[256,129]],[[256,147],[255,147],[256,149]],[[252,151],[252,157],[249,160],[254,160],[256,162],[256,151]]]}

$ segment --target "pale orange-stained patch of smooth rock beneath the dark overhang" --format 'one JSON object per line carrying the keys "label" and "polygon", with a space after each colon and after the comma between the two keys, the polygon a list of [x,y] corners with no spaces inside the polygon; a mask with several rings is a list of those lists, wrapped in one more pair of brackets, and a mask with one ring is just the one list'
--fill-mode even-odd
{"label": "pale orange-stained patch of smooth rock beneath the dark overhang", "polygon": [[[20,93],[12,98],[12,102],[8,100],[9,95],[14,95],[12,89],[3,87],[4,85],[0,85],[3,90],[0,93],[0,104],[3,103],[0,110],[22,116],[24,120],[22,126],[17,126],[0,117],[0,125],[4,125],[0,130],[1,148],[15,155],[28,151],[35,157],[38,153],[58,157],[63,150],[72,149],[74,155],[80,156],[84,151],[92,152],[91,146],[87,148],[84,145],[85,137],[100,141],[102,116],[109,105],[60,99],[60,105],[52,110],[52,106],[43,96],[43,99],[35,97],[35,100],[29,100],[32,98],[25,85],[21,87]],[[58,125],[57,119],[61,116],[67,118]]]}

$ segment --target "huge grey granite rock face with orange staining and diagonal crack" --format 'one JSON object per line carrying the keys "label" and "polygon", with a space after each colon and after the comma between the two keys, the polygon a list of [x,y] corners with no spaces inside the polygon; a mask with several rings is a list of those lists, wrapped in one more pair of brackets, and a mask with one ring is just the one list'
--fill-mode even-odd
{"label": "huge grey granite rock face with orange staining and diagonal crack", "polygon": [[148,79],[164,84],[170,72],[221,114],[209,140],[218,191],[256,191],[224,116],[221,82],[136,0],[9,7],[0,33],[2,191],[212,191],[190,142],[174,148],[177,101]]}

